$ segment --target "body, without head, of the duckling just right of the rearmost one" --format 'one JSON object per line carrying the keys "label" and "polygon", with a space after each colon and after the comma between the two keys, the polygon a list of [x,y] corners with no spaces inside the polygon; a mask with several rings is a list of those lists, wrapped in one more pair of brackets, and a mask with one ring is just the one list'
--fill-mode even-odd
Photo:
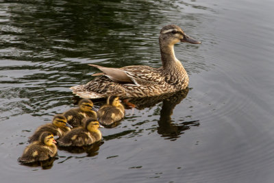
{"label": "body, without head, of the duckling just right of the rearmost one", "polygon": [[89,132],[84,127],[77,127],[71,130],[71,132],[65,134],[58,140],[58,145],[61,147],[77,146],[82,147],[85,145],[91,145],[101,140],[101,132]]}

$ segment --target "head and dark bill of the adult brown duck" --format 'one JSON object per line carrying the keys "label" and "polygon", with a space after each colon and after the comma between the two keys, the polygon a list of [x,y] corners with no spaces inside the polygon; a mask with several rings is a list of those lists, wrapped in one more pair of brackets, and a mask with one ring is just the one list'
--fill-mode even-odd
{"label": "head and dark bill of the adult brown duck", "polygon": [[162,27],[159,36],[160,44],[175,45],[177,42],[190,42],[192,44],[201,44],[201,41],[190,38],[177,25],[166,25]]}

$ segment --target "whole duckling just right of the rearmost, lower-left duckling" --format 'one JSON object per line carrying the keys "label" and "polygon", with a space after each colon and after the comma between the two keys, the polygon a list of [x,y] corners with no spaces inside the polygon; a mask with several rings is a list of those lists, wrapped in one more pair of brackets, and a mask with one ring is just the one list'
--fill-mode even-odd
{"label": "whole duckling just right of the rearmost, lower-left duckling", "polygon": [[85,127],[74,128],[58,140],[58,145],[60,147],[92,145],[92,143],[100,141],[102,138],[102,134],[98,129],[99,127],[103,126],[95,119],[89,118],[86,121]]}

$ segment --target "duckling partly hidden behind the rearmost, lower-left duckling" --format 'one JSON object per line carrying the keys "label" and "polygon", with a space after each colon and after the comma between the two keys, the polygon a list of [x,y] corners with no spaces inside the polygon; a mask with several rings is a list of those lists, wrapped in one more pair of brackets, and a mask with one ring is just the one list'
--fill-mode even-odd
{"label": "duckling partly hidden behind the rearmost, lower-left duckling", "polygon": [[41,125],[36,129],[34,134],[29,137],[29,143],[38,141],[42,132],[51,132],[55,136],[63,136],[66,132],[71,131],[72,126],[67,123],[66,118],[62,114],[53,117],[52,123]]}

